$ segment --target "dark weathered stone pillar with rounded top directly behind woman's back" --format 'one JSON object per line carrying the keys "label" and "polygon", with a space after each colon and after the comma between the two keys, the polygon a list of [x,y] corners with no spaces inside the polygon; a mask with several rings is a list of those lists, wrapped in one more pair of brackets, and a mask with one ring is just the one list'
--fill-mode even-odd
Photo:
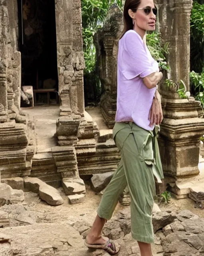
{"label": "dark weathered stone pillar with rounded top directly behind woman's back", "polygon": [[100,106],[108,128],[115,124],[117,103],[118,40],[123,30],[123,14],[113,5],[104,21],[104,26],[95,35],[96,60],[104,94]]}

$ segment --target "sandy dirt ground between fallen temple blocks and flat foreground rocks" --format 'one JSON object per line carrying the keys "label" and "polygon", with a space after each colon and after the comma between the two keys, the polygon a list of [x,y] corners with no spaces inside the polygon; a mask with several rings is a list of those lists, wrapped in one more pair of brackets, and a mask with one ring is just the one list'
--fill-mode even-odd
{"label": "sandy dirt ground between fallen temple blocks and flat foreground rocks", "polygon": [[[65,196],[63,189],[59,188],[61,196],[65,200],[65,203],[61,206],[49,206],[46,202],[39,199],[37,194],[32,192],[25,193],[24,205],[29,206],[34,211],[44,212],[46,215],[45,222],[54,222],[55,220],[66,220],[69,224],[80,220],[92,224],[96,216],[96,210],[100,203],[100,194],[94,193],[89,186],[86,185],[86,198],[83,203],[80,204],[69,204],[67,196]],[[9,208],[9,206],[7,206]],[[8,209],[7,208],[7,209]],[[122,206],[118,203],[114,216],[118,214],[120,210],[126,210],[129,212],[129,206]],[[190,210],[194,214],[204,218],[204,210],[197,208],[195,202],[190,198],[185,199],[175,199],[171,198],[168,204],[161,203],[159,208],[163,211],[165,210]]]}

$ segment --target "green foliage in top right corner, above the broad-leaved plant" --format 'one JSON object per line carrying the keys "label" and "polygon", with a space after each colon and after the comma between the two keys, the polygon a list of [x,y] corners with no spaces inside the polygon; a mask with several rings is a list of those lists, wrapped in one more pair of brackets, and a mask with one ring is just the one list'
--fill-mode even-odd
{"label": "green foliage in top right corner, above the broad-leaved plant", "polygon": [[190,26],[191,70],[204,72],[204,4],[194,1]]}

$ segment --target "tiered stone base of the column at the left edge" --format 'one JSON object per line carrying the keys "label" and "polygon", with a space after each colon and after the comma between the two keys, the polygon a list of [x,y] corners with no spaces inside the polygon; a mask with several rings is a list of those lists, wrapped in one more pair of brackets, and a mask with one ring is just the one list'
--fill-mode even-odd
{"label": "tiered stone base of the column at the left edge", "polygon": [[30,175],[35,153],[32,129],[31,122],[18,124],[12,120],[0,124],[1,178]]}

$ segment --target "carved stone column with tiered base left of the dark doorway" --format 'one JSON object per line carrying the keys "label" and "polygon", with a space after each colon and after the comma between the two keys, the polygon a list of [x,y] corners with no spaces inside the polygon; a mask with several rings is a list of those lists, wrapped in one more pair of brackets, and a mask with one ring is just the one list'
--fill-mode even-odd
{"label": "carved stone column with tiered base left of the dark doorway", "polygon": [[21,58],[16,47],[18,20],[14,5],[13,0],[0,0],[0,171],[2,180],[30,175],[35,152],[34,141],[30,136],[33,134],[34,127],[25,116],[18,118],[20,116],[18,91],[21,86]]}

